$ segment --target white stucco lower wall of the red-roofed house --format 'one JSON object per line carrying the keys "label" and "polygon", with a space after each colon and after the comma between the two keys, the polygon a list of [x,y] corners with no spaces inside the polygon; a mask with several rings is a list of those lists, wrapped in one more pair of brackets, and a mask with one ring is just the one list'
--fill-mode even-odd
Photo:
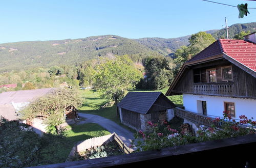
{"label": "white stucco lower wall of the red-roofed house", "polygon": [[222,114],[224,111],[224,102],[233,102],[236,119],[239,119],[240,115],[246,115],[248,118],[253,117],[253,119],[256,120],[256,100],[183,94],[183,104],[185,106],[185,110],[202,114],[202,103],[200,103],[200,101],[206,101],[207,115],[210,117],[223,117]]}

